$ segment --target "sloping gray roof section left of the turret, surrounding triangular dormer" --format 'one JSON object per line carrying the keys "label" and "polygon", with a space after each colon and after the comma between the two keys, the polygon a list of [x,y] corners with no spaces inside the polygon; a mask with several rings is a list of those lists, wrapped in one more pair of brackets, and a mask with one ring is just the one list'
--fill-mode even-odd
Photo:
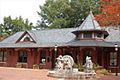
{"label": "sloping gray roof section left of the turret, surrounding triangular dormer", "polygon": [[56,44],[61,46],[66,42],[75,38],[72,31],[76,28],[65,28],[65,29],[52,29],[52,30],[40,30],[40,31],[27,31],[31,37],[35,40],[33,42],[18,42],[16,41],[22,36],[23,32],[18,32],[2,42],[0,42],[0,48],[11,48],[11,47],[54,47]]}

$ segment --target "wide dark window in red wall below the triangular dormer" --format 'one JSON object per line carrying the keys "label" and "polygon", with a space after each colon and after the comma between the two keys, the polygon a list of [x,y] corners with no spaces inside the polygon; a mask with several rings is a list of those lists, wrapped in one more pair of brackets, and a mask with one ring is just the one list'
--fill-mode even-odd
{"label": "wide dark window in red wall below the triangular dormer", "polygon": [[27,52],[26,51],[19,51],[18,62],[27,63]]}

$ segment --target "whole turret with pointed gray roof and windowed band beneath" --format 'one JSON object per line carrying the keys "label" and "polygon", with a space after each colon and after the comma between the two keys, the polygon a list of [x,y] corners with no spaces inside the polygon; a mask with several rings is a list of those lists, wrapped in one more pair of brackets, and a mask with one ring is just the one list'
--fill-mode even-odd
{"label": "whole turret with pointed gray roof and windowed band beneath", "polygon": [[83,23],[78,27],[78,30],[73,31],[76,35],[76,39],[79,40],[104,40],[108,36],[108,32],[102,30],[95,17],[90,11],[90,14],[86,17]]}

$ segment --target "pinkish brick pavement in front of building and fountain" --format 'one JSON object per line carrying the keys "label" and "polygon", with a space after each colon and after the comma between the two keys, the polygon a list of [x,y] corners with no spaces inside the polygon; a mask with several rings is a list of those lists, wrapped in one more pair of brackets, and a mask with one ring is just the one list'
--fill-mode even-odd
{"label": "pinkish brick pavement in front of building and fountain", "polygon": [[[46,69],[23,69],[0,67],[0,80],[64,80],[47,76]],[[97,80],[120,80],[120,76],[97,76]]]}

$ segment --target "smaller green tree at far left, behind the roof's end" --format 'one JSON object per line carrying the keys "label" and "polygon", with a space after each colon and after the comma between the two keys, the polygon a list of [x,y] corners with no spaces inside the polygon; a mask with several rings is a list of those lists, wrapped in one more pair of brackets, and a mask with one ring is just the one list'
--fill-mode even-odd
{"label": "smaller green tree at far left, behind the roof's end", "polygon": [[1,36],[8,36],[22,30],[31,30],[33,24],[28,19],[23,19],[21,16],[12,19],[11,16],[4,17],[3,24],[0,24]]}

